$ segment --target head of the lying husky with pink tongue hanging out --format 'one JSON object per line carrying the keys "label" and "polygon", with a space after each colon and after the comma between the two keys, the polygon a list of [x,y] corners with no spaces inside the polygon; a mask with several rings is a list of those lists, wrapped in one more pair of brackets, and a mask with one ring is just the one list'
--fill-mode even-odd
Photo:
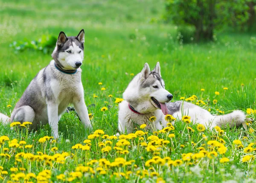
{"label": "head of the lying husky with pink tongue hanging out", "polygon": [[173,96],[165,89],[159,62],[152,71],[148,63],[145,63],[142,71],[134,77],[125,90],[123,97],[131,105],[143,108],[144,113],[161,109],[163,114],[168,114],[165,103],[172,100]]}

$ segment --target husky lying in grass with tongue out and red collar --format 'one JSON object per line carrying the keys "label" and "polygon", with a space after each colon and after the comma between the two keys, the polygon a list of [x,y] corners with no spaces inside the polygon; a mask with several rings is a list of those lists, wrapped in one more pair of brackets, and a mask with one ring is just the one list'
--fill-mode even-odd
{"label": "husky lying in grass with tongue out and red collar", "polygon": [[[131,133],[136,126],[142,124],[147,124],[146,130],[162,129],[167,124],[164,119],[166,114],[172,114],[176,119],[189,115],[194,123],[203,124],[209,129],[214,126],[239,126],[245,120],[244,113],[239,110],[214,116],[192,103],[184,101],[168,103],[172,97],[172,94],[165,89],[159,62],[153,71],[150,71],[148,63],[145,63],[142,71],[131,80],[123,93],[124,101],[119,104],[119,131]],[[155,116],[156,120],[148,124],[152,116]]]}

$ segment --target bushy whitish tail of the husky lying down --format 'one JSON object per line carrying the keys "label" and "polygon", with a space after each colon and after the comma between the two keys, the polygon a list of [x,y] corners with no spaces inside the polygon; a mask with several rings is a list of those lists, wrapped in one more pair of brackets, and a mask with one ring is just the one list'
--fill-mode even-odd
{"label": "bushy whitish tail of the husky lying down", "polygon": [[246,119],[244,112],[236,110],[231,112],[230,114],[214,116],[214,120],[212,124],[219,127],[234,127],[240,126]]}

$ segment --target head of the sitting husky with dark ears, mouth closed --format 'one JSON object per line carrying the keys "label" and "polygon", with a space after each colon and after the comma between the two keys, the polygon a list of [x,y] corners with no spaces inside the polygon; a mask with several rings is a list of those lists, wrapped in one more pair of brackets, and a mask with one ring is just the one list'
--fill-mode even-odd
{"label": "head of the sitting husky with dark ears, mouth closed", "polygon": [[78,69],[84,60],[84,29],[76,37],[61,31],[52,58],[62,69]]}

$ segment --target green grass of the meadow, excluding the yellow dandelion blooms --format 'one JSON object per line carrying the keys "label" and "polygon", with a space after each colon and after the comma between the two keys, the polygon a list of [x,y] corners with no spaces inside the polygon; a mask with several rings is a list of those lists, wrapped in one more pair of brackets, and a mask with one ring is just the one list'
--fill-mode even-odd
{"label": "green grass of the meadow, excluding the yellow dandelion blooms", "polygon": [[[37,40],[43,34],[58,36],[60,31],[64,31],[67,36],[76,35],[81,29],[85,31],[84,44],[84,63],[82,65],[82,82],[84,85],[84,97],[89,112],[93,113],[93,131],[96,129],[104,130],[105,134],[113,135],[117,130],[118,107],[114,103],[115,97],[122,97],[128,83],[132,79],[131,73],[137,74],[143,69],[147,62],[153,69],[157,61],[160,62],[161,74],[166,83],[166,89],[174,94],[174,100],[180,97],[190,97],[193,94],[201,99],[201,89],[204,88],[203,100],[217,99],[217,105],[210,104],[212,112],[214,109],[223,110],[228,113],[234,109],[241,109],[244,112],[247,108],[255,109],[256,100],[256,76],[255,68],[255,47],[249,44],[250,37],[255,34],[216,32],[217,40],[214,43],[189,43],[182,44],[177,39],[177,30],[174,25],[165,24],[161,21],[164,12],[164,1],[157,0],[98,0],[98,1],[62,1],[61,3],[52,0],[44,1],[17,1],[0,0],[0,112],[10,115],[15,103],[19,100],[30,81],[38,71],[51,60],[50,54],[43,54],[40,51],[16,52],[9,47],[14,41],[25,38]],[[152,21],[157,20],[157,21]],[[153,22],[153,23],[152,23]],[[103,85],[99,86],[98,83]],[[242,89],[241,83],[244,84]],[[105,87],[105,91],[101,91]],[[223,87],[227,87],[225,92]],[[214,92],[220,92],[215,96]],[[97,98],[93,94],[98,95]],[[108,98],[113,94],[113,98]],[[105,103],[107,101],[108,103]],[[11,108],[7,108],[7,105]],[[105,112],[104,117],[100,109],[108,106],[110,109]],[[208,109],[208,108],[207,108]],[[250,116],[253,117],[253,116]],[[254,116],[255,118],[255,116]],[[251,126],[255,129],[255,122]],[[170,149],[165,149],[172,160],[181,159],[182,153],[195,153],[197,150],[192,148],[191,141],[198,143],[201,134],[196,131],[196,126],[192,126],[195,133],[186,132],[181,136],[184,124],[175,124],[175,147],[168,145]],[[76,143],[82,143],[87,138],[88,130],[84,130],[75,113],[64,114],[59,122],[59,132],[62,134],[58,146],[58,152],[71,152],[70,150]],[[243,140],[244,147],[250,142],[255,142],[255,133],[247,133],[243,128],[225,129],[226,136],[222,137],[227,142],[228,151],[225,154],[231,162],[225,165],[215,160],[215,172],[211,160],[202,160],[197,166],[180,166],[173,169],[162,169],[163,177],[166,182],[217,182],[225,180],[236,180],[242,182],[245,178],[255,179],[255,163],[242,163],[244,156],[242,150],[234,150],[231,143],[235,139],[242,140],[248,134],[248,140]],[[215,132],[204,132],[208,140],[216,138]],[[0,135],[8,135],[10,140],[21,137],[15,131],[10,130],[9,126],[1,125]],[[29,132],[28,144],[33,144],[35,152],[40,151],[41,146],[37,140],[45,135],[50,135],[49,126],[42,127],[38,132]],[[165,136],[159,137],[165,138]],[[148,134],[149,136],[149,134]],[[200,139],[198,139],[200,137]],[[66,142],[66,139],[68,141]],[[169,139],[170,140],[170,139]],[[137,140],[135,140],[137,142]],[[116,141],[114,141],[116,143]],[[198,143],[197,147],[207,141]],[[180,144],[186,145],[180,148]],[[91,158],[99,159],[101,153],[96,152],[95,142],[91,147]],[[135,160],[142,170],[143,163],[152,157],[152,154],[143,151],[138,154],[135,150],[130,150],[128,160]],[[10,154],[13,153],[9,152]],[[46,153],[50,154],[49,143]],[[161,152],[163,157],[163,152]],[[105,154],[104,156],[113,161],[115,155]],[[254,151],[255,155],[255,151]],[[141,157],[144,160],[141,160]],[[204,161],[206,163],[204,163]],[[10,168],[15,167],[15,157],[10,161],[0,159],[0,164],[9,175],[4,181],[10,179]],[[79,159],[80,163],[84,162]],[[208,166],[207,166],[208,163]],[[196,163],[195,163],[196,164]],[[20,167],[20,164],[18,164]],[[67,171],[75,171],[77,163],[74,159],[68,159],[65,166],[57,169],[52,168],[52,180],[56,180],[56,175]],[[39,168],[38,168],[39,167]],[[32,172],[38,175],[43,169],[49,167],[33,166]],[[132,168],[135,172],[139,170]],[[156,169],[156,166],[154,167]],[[148,167],[145,167],[148,169]],[[159,170],[159,169],[157,169]],[[161,170],[159,170],[161,172]],[[174,172],[175,173],[174,173]],[[26,171],[28,173],[28,171]],[[212,178],[214,174],[214,179]],[[67,176],[66,176],[67,177]],[[99,176],[98,182],[125,181],[124,178],[118,179],[116,176]],[[138,177],[131,176],[130,181],[135,182]],[[145,177],[139,181],[156,181],[156,178]],[[85,177],[84,182],[90,181]]]}

